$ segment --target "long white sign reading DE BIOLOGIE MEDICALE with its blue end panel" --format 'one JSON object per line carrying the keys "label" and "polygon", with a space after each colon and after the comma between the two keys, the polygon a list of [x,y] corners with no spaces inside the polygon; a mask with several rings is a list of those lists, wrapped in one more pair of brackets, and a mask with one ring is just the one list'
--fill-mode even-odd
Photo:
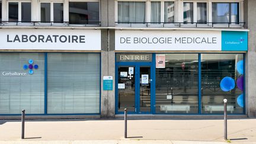
{"label": "long white sign reading DE BIOLOGIE MEDICALE with its blue end panel", "polygon": [[[116,50],[247,50],[247,31],[116,30]],[[233,48],[232,48],[233,47]]]}

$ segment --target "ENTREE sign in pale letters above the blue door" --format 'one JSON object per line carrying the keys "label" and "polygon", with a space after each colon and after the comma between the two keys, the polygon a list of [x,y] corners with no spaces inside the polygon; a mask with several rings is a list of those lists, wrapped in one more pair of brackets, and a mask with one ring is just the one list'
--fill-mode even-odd
{"label": "ENTREE sign in pale letters above the blue door", "polygon": [[151,62],[151,53],[117,53],[117,62]]}

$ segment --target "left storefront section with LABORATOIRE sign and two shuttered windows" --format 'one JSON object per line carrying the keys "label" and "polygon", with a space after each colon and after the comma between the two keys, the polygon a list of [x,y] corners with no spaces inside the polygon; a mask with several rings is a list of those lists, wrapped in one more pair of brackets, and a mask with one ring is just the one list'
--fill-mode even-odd
{"label": "left storefront section with LABORATOIRE sign and two shuttered windows", "polygon": [[1,116],[100,114],[100,30],[2,29],[0,37]]}

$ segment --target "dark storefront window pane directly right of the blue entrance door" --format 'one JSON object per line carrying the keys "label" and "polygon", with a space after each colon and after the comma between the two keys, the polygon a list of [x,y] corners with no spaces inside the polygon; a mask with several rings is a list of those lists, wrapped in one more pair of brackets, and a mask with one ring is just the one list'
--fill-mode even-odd
{"label": "dark storefront window pane directly right of the blue entrance door", "polygon": [[165,54],[156,67],[156,113],[198,112],[198,55]]}

